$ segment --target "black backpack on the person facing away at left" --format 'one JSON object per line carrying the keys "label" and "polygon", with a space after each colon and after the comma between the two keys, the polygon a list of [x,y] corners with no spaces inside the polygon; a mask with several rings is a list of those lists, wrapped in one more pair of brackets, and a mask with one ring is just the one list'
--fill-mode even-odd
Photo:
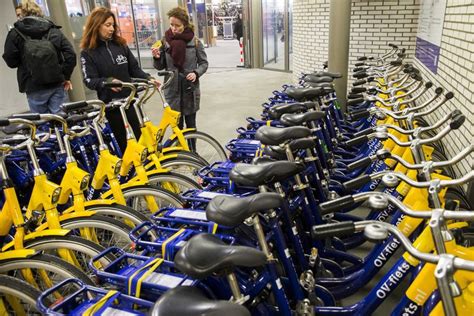
{"label": "black backpack on the person facing away at left", "polygon": [[51,29],[41,39],[31,38],[17,28],[15,31],[25,40],[23,46],[23,63],[37,84],[50,84],[64,81],[58,51],[49,40]]}

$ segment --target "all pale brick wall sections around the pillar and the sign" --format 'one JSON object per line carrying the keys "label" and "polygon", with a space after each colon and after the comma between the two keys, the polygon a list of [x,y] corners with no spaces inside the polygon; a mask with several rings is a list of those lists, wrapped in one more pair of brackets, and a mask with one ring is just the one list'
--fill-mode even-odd
{"label": "all pale brick wall sections around the pillar and the sign", "polygon": [[[455,98],[428,121],[434,122],[455,108],[467,117],[464,126],[444,141],[451,157],[474,140],[474,1],[447,1],[437,75],[414,57],[420,1],[352,0],[349,69],[359,56],[385,52],[388,43],[406,48],[408,60],[421,70],[425,80],[455,93]],[[295,0],[294,78],[303,71],[320,69],[327,60],[328,34],[329,1]],[[472,160],[458,164],[455,170],[458,175],[465,174],[472,164]]]}

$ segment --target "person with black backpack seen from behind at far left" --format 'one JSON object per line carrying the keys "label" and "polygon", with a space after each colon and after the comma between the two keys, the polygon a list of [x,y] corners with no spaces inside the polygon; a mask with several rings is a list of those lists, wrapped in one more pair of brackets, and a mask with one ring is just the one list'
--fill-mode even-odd
{"label": "person with black backpack seen from behind at far left", "polygon": [[76,53],[61,27],[45,19],[34,1],[22,1],[21,12],[23,18],[5,40],[3,59],[18,68],[18,87],[26,92],[31,112],[57,113],[72,89]]}

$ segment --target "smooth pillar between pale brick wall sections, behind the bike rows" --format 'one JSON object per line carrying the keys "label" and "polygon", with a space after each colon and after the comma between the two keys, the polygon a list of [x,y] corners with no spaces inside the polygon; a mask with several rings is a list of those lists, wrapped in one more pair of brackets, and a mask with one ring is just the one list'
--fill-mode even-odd
{"label": "smooth pillar between pale brick wall sections, behind the bike rows", "polygon": [[351,22],[351,1],[332,0],[329,12],[329,71],[340,72],[336,93],[342,110],[346,110],[347,75],[349,66],[349,35]]}

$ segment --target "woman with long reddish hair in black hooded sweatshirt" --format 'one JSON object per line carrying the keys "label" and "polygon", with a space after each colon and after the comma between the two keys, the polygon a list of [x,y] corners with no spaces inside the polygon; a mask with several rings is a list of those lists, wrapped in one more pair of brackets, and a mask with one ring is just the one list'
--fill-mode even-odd
{"label": "woman with long reddish hair in black hooded sweatshirt", "polygon": [[[149,79],[156,86],[160,83],[138,65],[135,56],[121,37],[117,19],[113,12],[105,7],[95,8],[87,18],[81,40],[81,64],[84,84],[97,91],[97,97],[108,103],[129,95],[128,89],[104,88],[104,82],[131,82],[132,78]],[[120,110],[106,113],[110,127],[122,152],[127,139]],[[133,106],[127,110],[128,121],[137,139],[140,126]]]}

